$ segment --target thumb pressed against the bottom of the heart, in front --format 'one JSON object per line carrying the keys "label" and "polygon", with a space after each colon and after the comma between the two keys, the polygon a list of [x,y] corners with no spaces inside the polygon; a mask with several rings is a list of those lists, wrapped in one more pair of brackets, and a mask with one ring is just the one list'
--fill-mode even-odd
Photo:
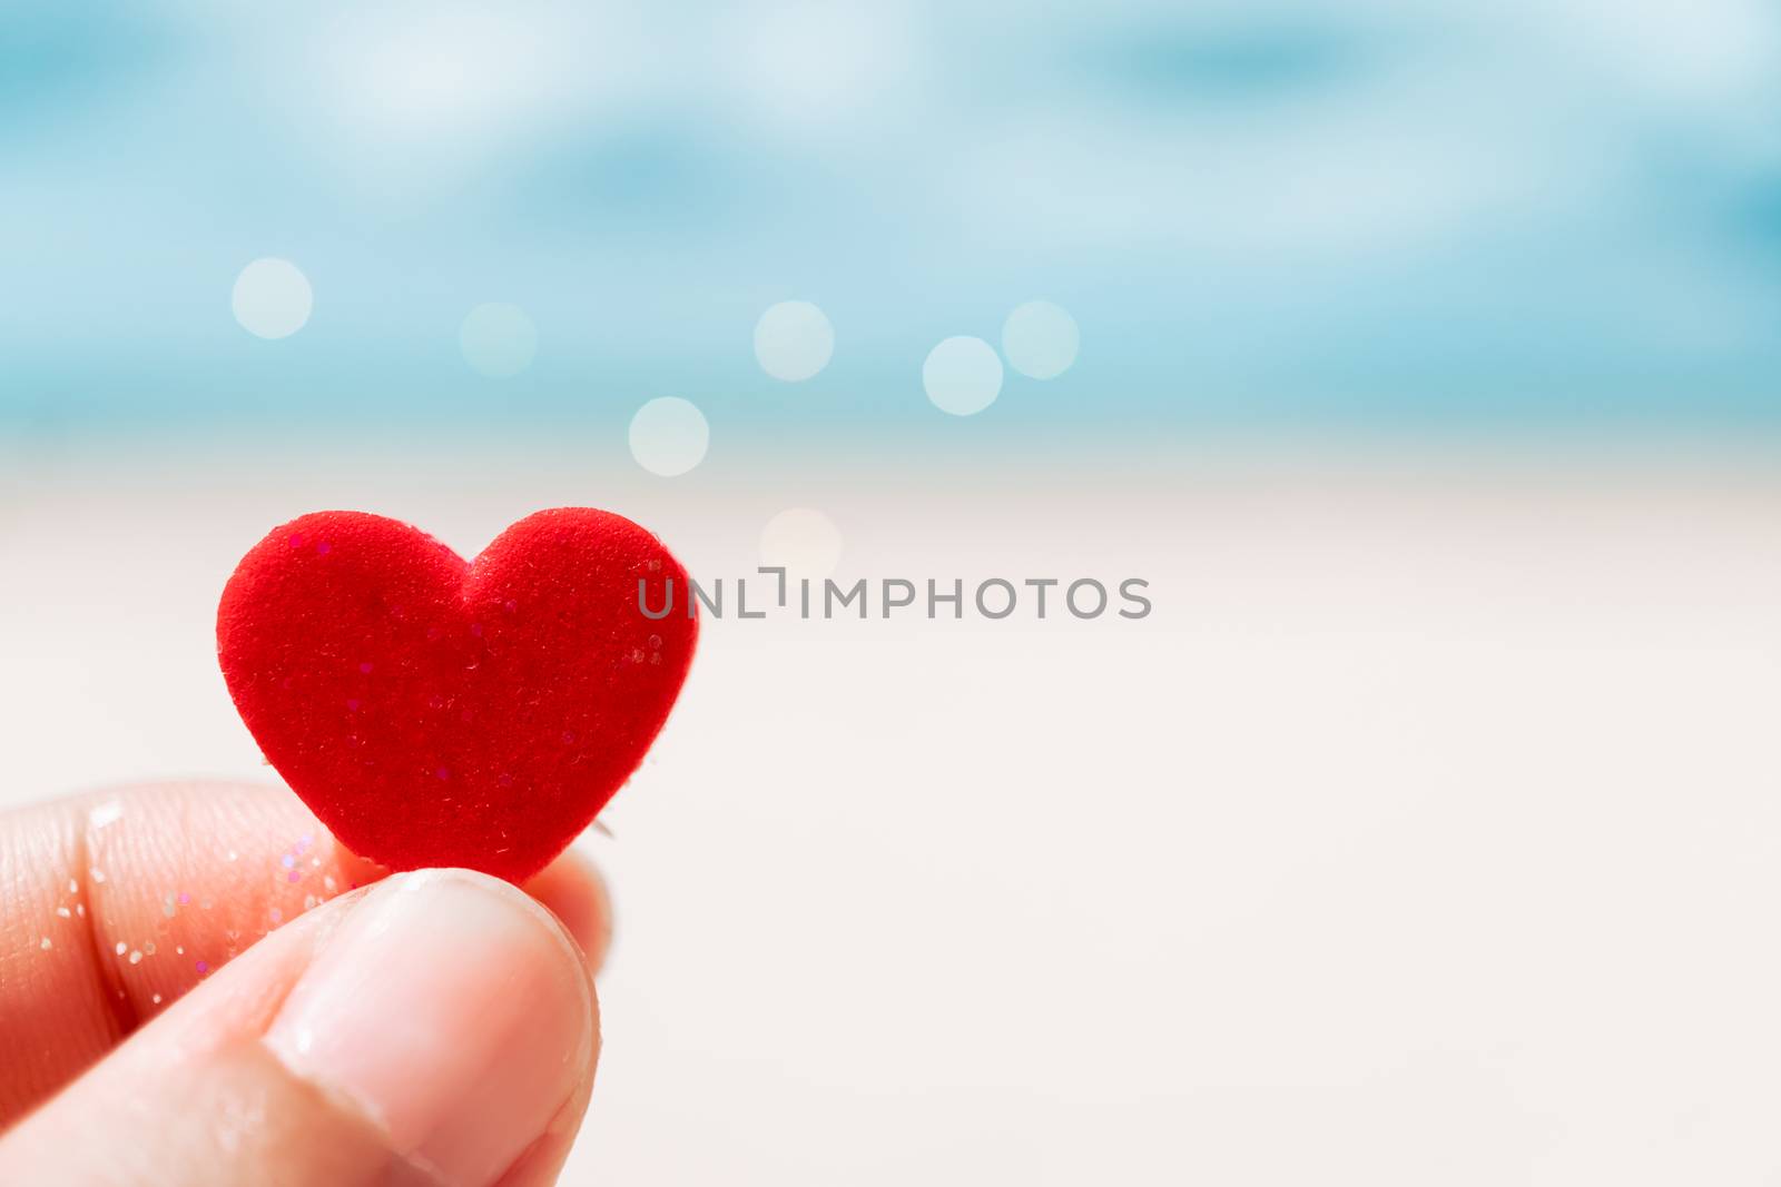
{"label": "thumb pressed against the bottom of the heart, in front", "polygon": [[272,933],[0,1141],[0,1183],[556,1178],[598,1014],[513,886],[397,874]]}

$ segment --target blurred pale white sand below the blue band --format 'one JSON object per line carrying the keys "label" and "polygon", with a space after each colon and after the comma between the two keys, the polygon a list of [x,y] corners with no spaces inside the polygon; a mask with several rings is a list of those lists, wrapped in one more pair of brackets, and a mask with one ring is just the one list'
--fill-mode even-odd
{"label": "blurred pale white sand below the blue band", "polygon": [[1781,1169],[1781,466],[1405,445],[1049,491],[864,470],[20,456],[0,804],[264,778],[210,614],[301,511],[474,552],[607,504],[734,575],[814,505],[846,577],[1138,575],[1156,612],[709,623],[616,840],[584,842],[620,938],[566,1182]]}

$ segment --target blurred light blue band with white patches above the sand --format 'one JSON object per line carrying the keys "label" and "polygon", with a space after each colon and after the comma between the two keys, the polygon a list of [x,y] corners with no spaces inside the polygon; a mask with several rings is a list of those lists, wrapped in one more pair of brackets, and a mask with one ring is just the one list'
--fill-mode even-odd
{"label": "blurred light blue band with white patches above the sand", "polygon": [[[0,431],[500,424],[677,395],[915,429],[1049,299],[1012,431],[1781,416],[1781,9],[12,5]],[[313,287],[255,338],[262,256]],[[834,361],[752,352],[812,301]],[[476,374],[481,303],[538,327]]]}

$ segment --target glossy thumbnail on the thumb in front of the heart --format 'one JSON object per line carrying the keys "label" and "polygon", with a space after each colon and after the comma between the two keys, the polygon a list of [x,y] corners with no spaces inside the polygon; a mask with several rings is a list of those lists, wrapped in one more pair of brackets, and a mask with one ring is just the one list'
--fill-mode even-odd
{"label": "glossy thumbnail on the thumb in front of the heart", "polygon": [[397,874],[353,908],[265,1043],[354,1100],[445,1183],[493,1183],[541,1137],[593,1059],[573,941],[513,886]]}

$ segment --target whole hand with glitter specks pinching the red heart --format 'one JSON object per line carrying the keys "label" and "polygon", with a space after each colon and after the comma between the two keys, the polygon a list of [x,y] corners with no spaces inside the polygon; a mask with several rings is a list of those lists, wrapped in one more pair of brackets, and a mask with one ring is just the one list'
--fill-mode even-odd
{"label": "whole hand with glitter specks pinching the red heart", "polygon": [[525,890],[379,881],[276,788],[0,815],[0,1183],[554,1182],[609,913]]}

